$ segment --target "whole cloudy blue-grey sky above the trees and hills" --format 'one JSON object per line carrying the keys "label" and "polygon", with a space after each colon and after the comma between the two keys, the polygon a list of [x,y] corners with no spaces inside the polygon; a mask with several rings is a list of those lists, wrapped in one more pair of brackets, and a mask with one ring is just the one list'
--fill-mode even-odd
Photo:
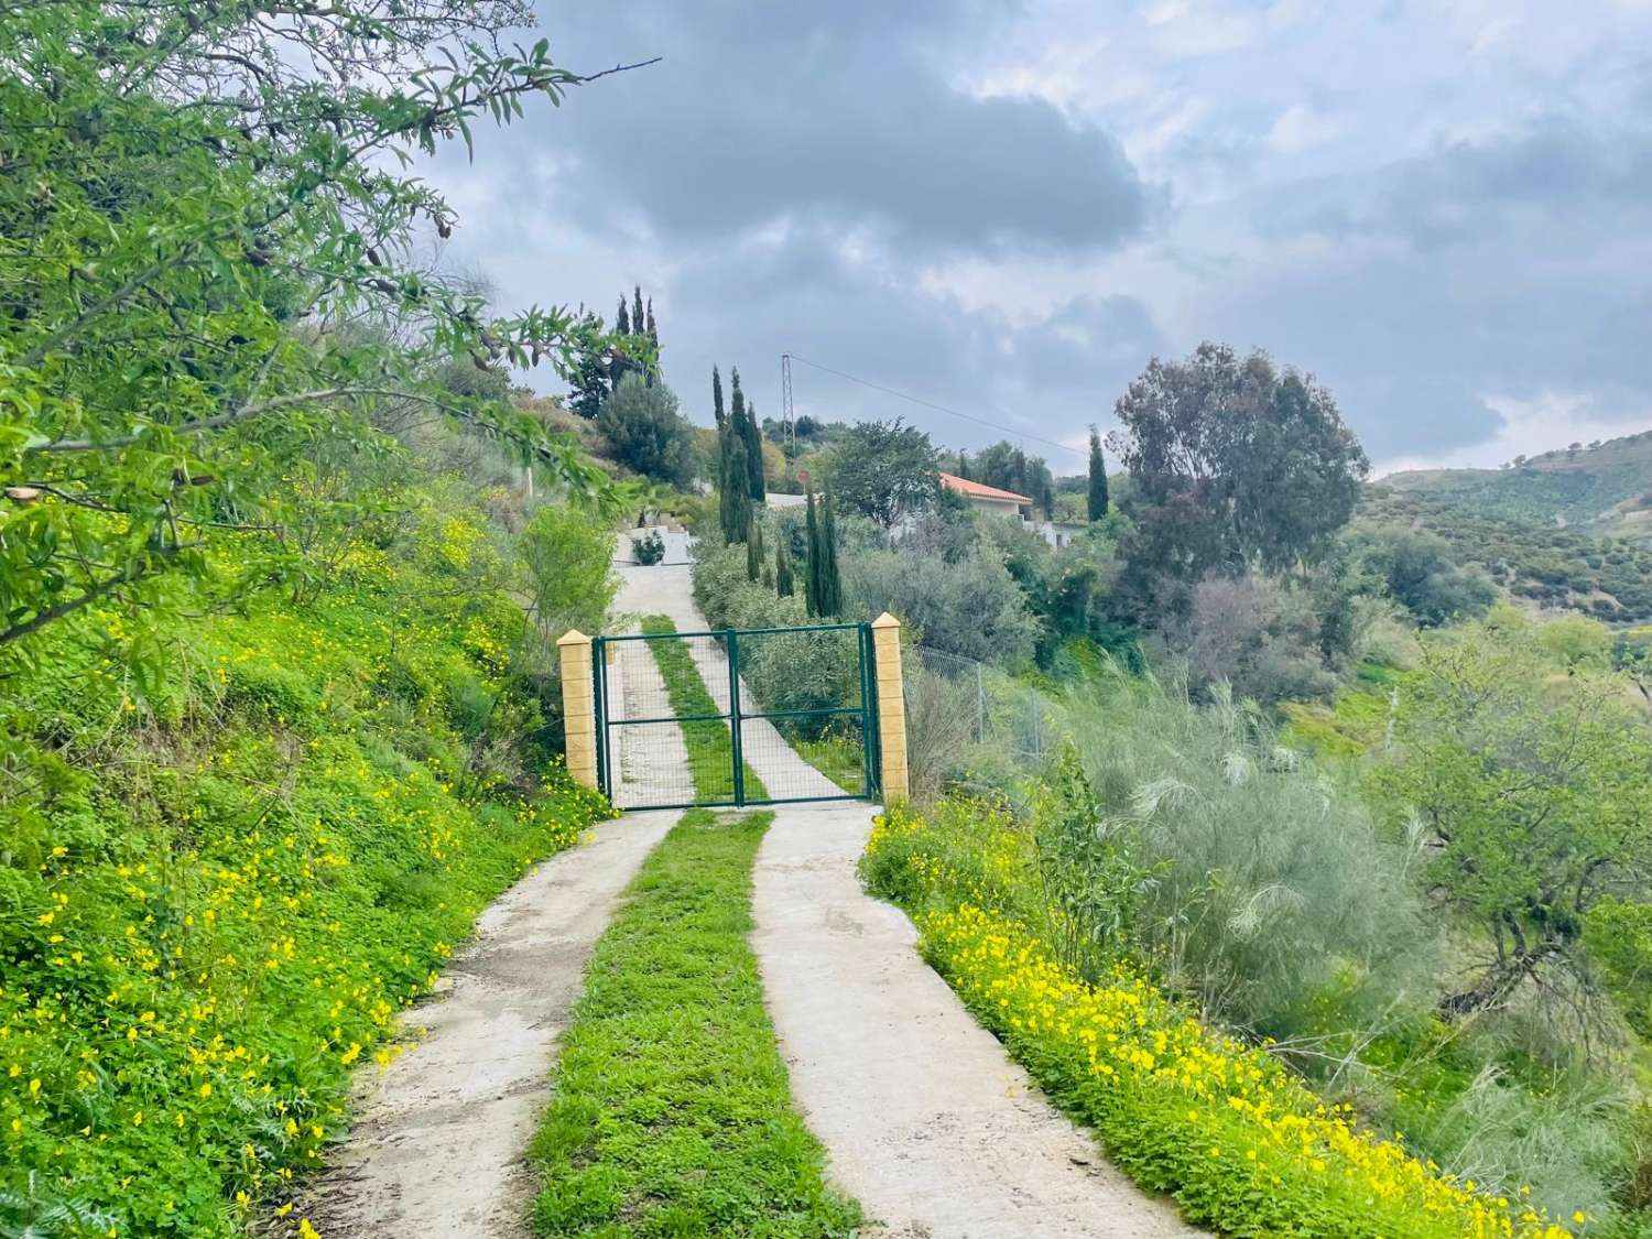
{"label": "whole cloudy blue-grey sky above the trees and hills", "polygon": [[[1652,426],[1652,0],[616,0],[430,177],[502,307],[654,297],[684,411],[780,354],[1082,444],[1153,355],[1267,349],[1378,469]],[[544,382],[535,380],[535,382]],[[999,433],[796,367],[798,413]]]}

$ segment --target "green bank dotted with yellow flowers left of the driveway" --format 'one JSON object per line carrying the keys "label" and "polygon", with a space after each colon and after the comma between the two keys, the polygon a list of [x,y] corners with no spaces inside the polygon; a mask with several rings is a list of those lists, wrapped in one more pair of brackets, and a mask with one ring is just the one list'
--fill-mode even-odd
{"label": "green bank dotted with yellow flowers left of the driveway", "polygon": [[[509,544],[468,496],[401,494],[311,605],[175,624],[182,671],[144,694],[101,606],[8,681],[0,1218],[240,1234],[320,1165],[474,915],[603,816],[535,773]],[[479,719],[510,720],[512,762],[477,768]]]}

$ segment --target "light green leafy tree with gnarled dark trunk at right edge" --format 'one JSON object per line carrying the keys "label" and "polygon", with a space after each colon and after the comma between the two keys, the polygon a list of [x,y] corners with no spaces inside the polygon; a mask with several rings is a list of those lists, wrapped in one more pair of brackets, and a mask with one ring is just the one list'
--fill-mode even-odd
{"label": "light green leafy tree with gnarled dark trunk at right edge", "polygon": [[1581,938],[1607,895],[1652,895],[1652,732],[1612,672],[1555,667],[1508,608],[1426,638],[1399,684],[1396,760],[1370,786],[1429,849],[1431,887],[1480,942],[1452,1014],[1535,985],[1589,1019]]}

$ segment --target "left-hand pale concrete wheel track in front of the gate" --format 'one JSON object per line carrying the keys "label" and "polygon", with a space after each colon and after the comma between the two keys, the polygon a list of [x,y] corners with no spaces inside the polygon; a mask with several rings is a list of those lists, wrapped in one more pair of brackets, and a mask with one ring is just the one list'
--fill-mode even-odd
{"label": "left-hand pale concrete wheel track in front of the gate", "polygon": [[428,1034],[362,1074],[350,1138],[307,1209],[325,1239],[527,1234],[525,1153],[557,1037],[620,892],[676,816],[600,824],[477,919],[436,998],[408,1016]]}

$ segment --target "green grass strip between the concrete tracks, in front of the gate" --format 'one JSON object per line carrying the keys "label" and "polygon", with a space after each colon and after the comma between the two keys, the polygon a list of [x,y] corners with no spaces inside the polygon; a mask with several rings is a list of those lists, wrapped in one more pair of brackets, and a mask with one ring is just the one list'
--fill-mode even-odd
{"label": "green grass strip between the concrete tracks, in front of the gate", "polygon": [[596,943],[532,1158],[542,1236],[846,1236],[763,1008],[752,862],[771,813],[692,809]]}

